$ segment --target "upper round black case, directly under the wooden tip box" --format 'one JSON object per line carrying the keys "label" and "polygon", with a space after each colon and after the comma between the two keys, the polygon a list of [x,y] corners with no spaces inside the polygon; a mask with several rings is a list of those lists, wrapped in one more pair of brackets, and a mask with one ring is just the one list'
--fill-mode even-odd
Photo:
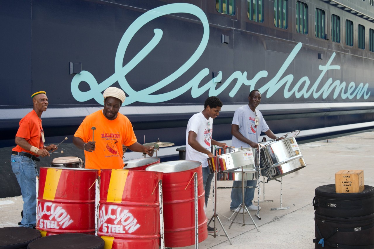
{"label": "upper round black case, directly under the wooden tip box", "polygon": [[315,190],[313,206],[316,213],[336,218],[349,218],[374,213],[374,187],[365,185],[361,193],[335,193],[335,184]]}

